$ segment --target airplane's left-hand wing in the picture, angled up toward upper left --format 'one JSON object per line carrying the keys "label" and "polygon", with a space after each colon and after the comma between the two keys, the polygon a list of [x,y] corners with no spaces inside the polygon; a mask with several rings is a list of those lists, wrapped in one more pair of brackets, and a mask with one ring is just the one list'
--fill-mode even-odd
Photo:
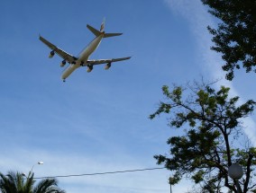
{"label": "airplane's left-hand wing in the picture, angled up toward upper left", "polygon": [[41,36],[39,37],[39,39],[46,45],[48,46],[51,50],[53,50],[54,52],[56,52],[59,57],[62,57],[63,59],[67,60],[70,64],[74,63],[77,60],[77,57],[73,57],[72,55],[70,55],[69,53],[65,52],[64,50],[58,48],[57,46],[53,45],[52,43],[50,43],[50,41],[42,38]]}

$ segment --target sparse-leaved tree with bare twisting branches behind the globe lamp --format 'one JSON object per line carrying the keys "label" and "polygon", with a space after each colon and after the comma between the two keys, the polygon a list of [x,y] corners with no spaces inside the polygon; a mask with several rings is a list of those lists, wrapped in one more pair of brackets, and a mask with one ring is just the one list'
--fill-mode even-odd
{"label": "sparse-leaved tree with bare twisting branches behind the globe lamp", "polygon": [[256,191],[256,148],[241,147],[242,118],[254,109],[254,101],[238,105],[239,97],[230,98],[229,88],[219,91],[212,84],[187,83],[185,87],[162,87],[166,97],[160,101],[158,110],[150,118],[167,113],[169,127],[183,127],[184,136],[168,139],[169,155],[155,155],[158,164],[174,171],[170,184],[176,184],[186,176],[200,185],[202,192],[221,192],[226,187],[234,192],[237,188],[228,177],[228,168],[233,163],[242,165],[242,192]]}

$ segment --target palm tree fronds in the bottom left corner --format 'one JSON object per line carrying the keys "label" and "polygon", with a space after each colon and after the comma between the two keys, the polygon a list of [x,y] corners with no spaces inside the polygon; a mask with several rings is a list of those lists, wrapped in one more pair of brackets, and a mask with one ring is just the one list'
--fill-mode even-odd
{"label": "palm tree fronds in the bottom left corner", "polygon": [[9,171],[7,175],[0,173],[0,192],[1,193],[65,193],[59,189],[56,179],[40,180],[34,186],[35,180],[33,173],[24,177],[20,172]]}

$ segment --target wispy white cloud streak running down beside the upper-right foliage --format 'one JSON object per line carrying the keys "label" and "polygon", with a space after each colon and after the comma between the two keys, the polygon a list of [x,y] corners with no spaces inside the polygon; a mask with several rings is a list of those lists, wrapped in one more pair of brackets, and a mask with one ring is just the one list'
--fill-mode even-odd
{"label": "wispy white cloud streak running down beside the upper-right foliage", "polygon": [[[190,29],[193,32],[198,44],[198,62],[204,68],[207,78],[213,80],[221,79],[217,85],[225,85],[231,88],[231,96],[240,96],[240,103],[247,100],[243,99],[242,93],[239,93],[238,87],[233,82],[224,79],[224,71],[221,68],[223,61],[220,55],[211,50],[213,45],[211,35],[206,30],[208,25],[215,26],[216,23],[210,13],[207,13],[206,6],[200,0],[165,0],[172,12],[181,14],[190,24]],[[242,85],[243,86],[243,85]],[[250,136],[251,142],[256,145],[256,124],[252,118],[243,120],[244,131],[247,136]]]}

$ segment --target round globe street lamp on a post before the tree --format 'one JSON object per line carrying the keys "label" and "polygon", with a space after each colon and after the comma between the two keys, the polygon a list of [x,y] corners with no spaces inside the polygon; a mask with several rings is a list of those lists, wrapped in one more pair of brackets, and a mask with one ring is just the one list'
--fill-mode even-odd
{"label": "round globe street lamp on a post before the tree", "polygon": [[232,164],[231,166],[229,166],[228,168],[228,175],[230,178],[232,178],[234,180],[236,189],[238,193],[242,193],[241,187],[239,185],[238,180],[242,178],[242,166],[239,164]]}

